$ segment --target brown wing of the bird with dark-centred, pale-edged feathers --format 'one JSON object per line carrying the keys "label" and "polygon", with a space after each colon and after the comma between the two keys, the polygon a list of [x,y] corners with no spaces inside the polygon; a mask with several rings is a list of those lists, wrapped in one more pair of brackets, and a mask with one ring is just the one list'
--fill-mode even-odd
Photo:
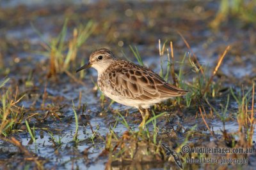
{"label": "brown wing of the bird with dark-centred, pale-edged feathers", "polygon": [[[120,61],[120,60],[119,60]],[[122,60],[113,64],[106,73],[113,92],[129,99],[148,101],[186,94],[186,90],[179,89],[166,83],[159,75],[149,69]]]}

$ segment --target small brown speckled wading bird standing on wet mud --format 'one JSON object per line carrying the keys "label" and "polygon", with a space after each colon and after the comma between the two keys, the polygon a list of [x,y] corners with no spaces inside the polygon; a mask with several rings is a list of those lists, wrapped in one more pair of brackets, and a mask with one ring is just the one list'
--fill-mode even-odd
{"label": "small brown speckled wading bird standing on wet mud", "polygon": [[188,92],[170,85],[147,67],[116,59],[106,48],[95,50],[88,64],[76,72],[90,67],[97,69],[99,89],[105,96],[117,103],[138,108],[142,115],[140,126],[143,127],[150,116],[150,106]]}

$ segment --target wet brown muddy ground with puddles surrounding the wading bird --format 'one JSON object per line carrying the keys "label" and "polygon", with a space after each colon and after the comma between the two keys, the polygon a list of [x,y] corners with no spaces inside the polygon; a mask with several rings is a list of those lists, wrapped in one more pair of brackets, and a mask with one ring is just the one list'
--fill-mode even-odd
{"label": "wet brown muddy ground with puddles surrounding the wading bird", "polygon": [[[15,94],[17,98],[24,96],[16,104],[19,107],[16,108],[17,113],[22,114],[20,122],[8,134],[2,134],[0,139],[0,169],[179,169],[173,159],[164,155],[159,142],[167,143],[176,148],[177,152],[180,152],[179,147],[184,142],[191,147],[217,148],[232,148],[234,145],[231,146],[227,138],[234,143],[242,143],[241,134],[237,132],[240,127],[237,121],[240,106],[230,89],[234,90],[235,96],[251,90],[248,110],[253,112],[252,86],[256,80],[255,23],[230,14],[217,27],[212,26],[212,21],[220,13],[218,1],[36,2],[0,2],[0,80],[10,78],[1,88],[1,95],[8,91],[12,99]],[[67,69],[52,72],[52,39],[60,34],[65,20],[65,46],[73,38],[74,29],[80,25],[92,23],[93,30],[79,46],[76,58]],[[97,82],[95,70],[86,71],[83,77],[76,74],[75,70],[82,62],[88,61],[93,50],[103,47],[111,49],[118,58],[137,62],[131,45],[134,49],[135,46],[138,48],[144,64],[159,73],[159,39],[161,47],[166,41],[162,56],[164,68],[168,64],[166,48],[170,52],[172,41],[175,73],[179,74],[182,67],[182,88],[187,90],[191,90],[188,85],[193,84],[198,76],[195,67],[189,62],[189,56],[195,55],[198,63],[205,67],[205,75],[211,76],[220,55],[228,45],[230,48],[218,73],[212,78],[210,86],[218,85],[215,95],[210,93],[204,96],[216,111],[212,111],[209,104],[200,97],[194,96],[189,105],[184,97],[180,103],[173,99],[152,108],[156,114],[166,111],[166,114],[156,119],[157,129],[150,123],[147,125],[148,130],[141,132],[138,129],[141,121],[138,110],[118,103],[112,104],[110,99],[102,98],[93,83]],[[68,47],[63,48],[62,52],[66,55]],[[182,63],[180,61],[184,55],[186,60]],[[166,73],[166,69],[163,71]],[[172,76],[168,80],[173,83]],[[223,116],[227,99],[229,103]],[[3,97],[1,101],[0,108],[3,108]],[[11,101],[11,98],[7,101]],[[198,110],[202,106],[208,115],[205,119],[211,132]],[[73,107],[78,123],[75,139],[76,118]],[[129,128],[122,124],[124,121],[120,115],[125,118]],[[223,117],[224,120],[221,120]],[[26,120],[35,141],[29,134]],[[3,119],[0,122],[3,123]],[[152,141],[154,132],[157,132],[157,143]],[[235,135],[231,136],[232,133]],[[17,139],[31,155],[24,153],[22,148],[17,147],[17,143],[13,145],[6,140],[11,140],[11,137]],[[252,139],[255,141],[254,126]],[[114,148],[111,152],[107,147],[108,142],[110,148]],[[132,145],[134,143],[136,147]],[[249,146],[240,144],[240,148]],[[120,152],[125,147],[136,151],[132,159],[127,159],[131,156],[127,150]],[[254,150],[251,154],[234,157],[246,157],[249,162],[184,164],[184,169],[253,169],[255,166]]]}

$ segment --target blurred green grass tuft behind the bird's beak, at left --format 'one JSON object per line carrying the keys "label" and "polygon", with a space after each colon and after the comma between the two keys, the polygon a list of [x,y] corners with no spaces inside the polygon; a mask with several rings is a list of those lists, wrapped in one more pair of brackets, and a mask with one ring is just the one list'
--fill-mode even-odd
{"label": "blurred green grass tuft behind the bird's beak, at left", "polygon": [[44,41],[42,46],[47,50],[47,52],[40,52],[40,54],[49,57],[48,77],[67,72],[71,66],[76,67],[74,61],[76,60],[77,51],[89,38],[96,26],[92,20],[86,25],[79,25],[79,27],[73,30],[72,38],[66,43],[67,23],[68,19],[65,20],[60,34],[58,34],[56,38],[52,38],[51,41],[45,41],[42,33],[31,24],[35,32],[42,38],[42,41]]}

